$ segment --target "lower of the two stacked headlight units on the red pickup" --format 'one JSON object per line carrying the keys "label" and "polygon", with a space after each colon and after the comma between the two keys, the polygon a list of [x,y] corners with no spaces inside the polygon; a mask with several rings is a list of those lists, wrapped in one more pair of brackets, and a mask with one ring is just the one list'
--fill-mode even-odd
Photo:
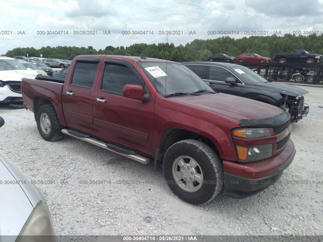
{"label": "lower of the two stacked headlight units on the red pickup", "polygon": [[238,158],[240,162],[250,162],[256,160],[263,160],[272,157],[273,145],[257,145],[252,147],[236,146]]}

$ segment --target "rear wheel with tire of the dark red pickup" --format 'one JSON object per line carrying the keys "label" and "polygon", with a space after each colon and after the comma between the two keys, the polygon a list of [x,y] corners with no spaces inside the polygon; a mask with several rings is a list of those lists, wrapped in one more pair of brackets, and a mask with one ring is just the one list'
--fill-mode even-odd
{"label": "rear wheel with tire of the dark red pickup", "polygon": [[36,114],[36,122],[38,132],[44,140],[56,141],[62,139],[63,133],[61,130],[63,126],[52,104],[43,104],[39,107]]}

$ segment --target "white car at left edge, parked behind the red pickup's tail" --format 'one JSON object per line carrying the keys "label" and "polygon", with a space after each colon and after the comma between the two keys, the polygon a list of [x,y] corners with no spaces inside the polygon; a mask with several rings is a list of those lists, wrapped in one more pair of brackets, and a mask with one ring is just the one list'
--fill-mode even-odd
{"label": "white car at left edge, parked behind the red pickup's tail", "polygon": [[35,70],[26,70],[16,59],[0,56],[0,103],[21,106],[21,79],[37,75]]}

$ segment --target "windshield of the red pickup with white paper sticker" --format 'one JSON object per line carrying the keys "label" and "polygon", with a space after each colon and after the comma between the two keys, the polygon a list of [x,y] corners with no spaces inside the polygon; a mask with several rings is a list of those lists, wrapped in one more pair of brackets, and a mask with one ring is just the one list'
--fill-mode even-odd
{"label": "windshield of the red pickup with white paper sticker", "polygon": [[172,94],[214,91],[187,67],[174,63],[138,63],[163,97]]}

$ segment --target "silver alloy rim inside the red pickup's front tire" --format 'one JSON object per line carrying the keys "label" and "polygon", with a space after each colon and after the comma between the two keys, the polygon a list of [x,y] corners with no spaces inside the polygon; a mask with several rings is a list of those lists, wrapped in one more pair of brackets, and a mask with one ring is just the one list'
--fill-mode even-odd
{"label": "silver alloy rim inside the red pickup's front tire", "polygon": [[177,157],[173,162],[172,173],[177,185],[186,192],[196,192],[203,184],[202,169],[192,157]]}

